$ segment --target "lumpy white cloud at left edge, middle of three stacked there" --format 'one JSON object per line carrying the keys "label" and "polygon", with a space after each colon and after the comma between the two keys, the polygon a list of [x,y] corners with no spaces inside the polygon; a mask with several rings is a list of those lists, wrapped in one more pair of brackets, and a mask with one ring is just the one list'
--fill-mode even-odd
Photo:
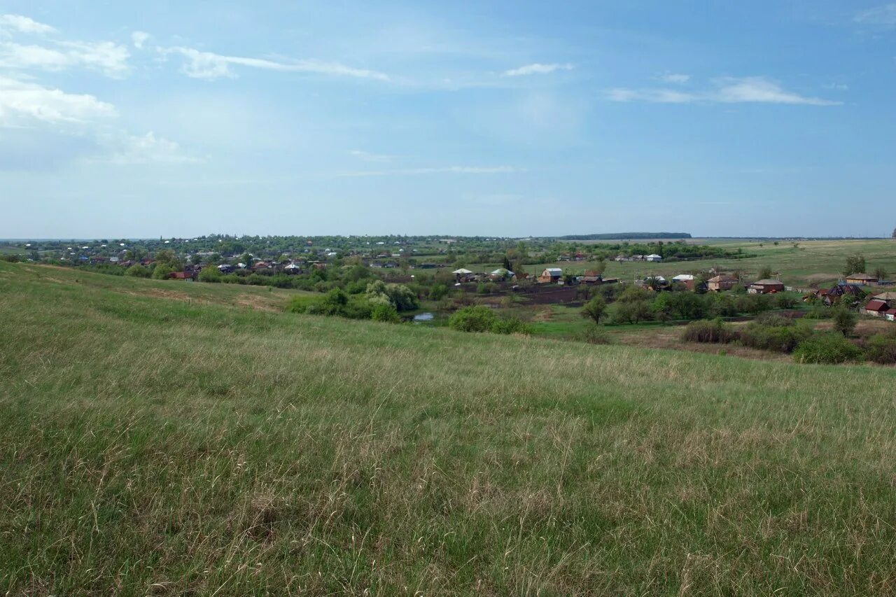
{"label": "lumpy white cloud at left edge, middle of three stacked there", "polygon": [[22,70],[61,71],[81,66],[121,77],[128,72],[128,57],[127,48],[111,41],[60,41],[56,48],[0,42],[0,66]]}

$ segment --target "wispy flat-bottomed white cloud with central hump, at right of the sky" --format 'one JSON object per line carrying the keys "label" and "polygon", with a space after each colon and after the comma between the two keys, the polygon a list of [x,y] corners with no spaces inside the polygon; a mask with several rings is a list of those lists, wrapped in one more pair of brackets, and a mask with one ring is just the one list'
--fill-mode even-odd
{"label": "wispy flat-bottomed white cloud with central hump, at right of the sky", "polygon": [[613,101],[645,101],[651,103],[765,103],[806,106],[839,106],[840,101],[821,99],[786,91],[780,84],[764,77],[717,79],[715,88],[707,91],[678,91],[671,89],[616,88],[607,92]]}

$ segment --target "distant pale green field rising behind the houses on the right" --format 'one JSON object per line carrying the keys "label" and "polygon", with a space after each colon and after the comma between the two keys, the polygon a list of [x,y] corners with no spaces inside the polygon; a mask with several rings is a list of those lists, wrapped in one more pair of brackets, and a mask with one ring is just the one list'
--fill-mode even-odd
{"label": "distant pale green field rising behind the houses on the right", "polygon": [[[643,278],[648,275],[667,277],[678,273],[716,268],[719,271],[733,272],[741,270],[747,274],[755,274],[760,268],[768,265],[772,271],[780,275],[780,279],[788,286],[807,287],[812,283],[831,284],[837,281],[840,270],[848,255],[861,253],[865,255],[869,272],[883,267],[892,279],[896,279],[896,240],[806,240],[793,242],[754,240],[725,240],[711,242],[727,249],[742,248],[747,255],[757,255],[745,259],[702,259],[669,264],[652,264],[646,262],[607,262],[606,276],[617,277],[625,281]],[[564,262],[560,264],[527,265],[529,273],[541,273],[545,267],[562,267],[573,272],[586,271],[593,264],[587,262]]]}

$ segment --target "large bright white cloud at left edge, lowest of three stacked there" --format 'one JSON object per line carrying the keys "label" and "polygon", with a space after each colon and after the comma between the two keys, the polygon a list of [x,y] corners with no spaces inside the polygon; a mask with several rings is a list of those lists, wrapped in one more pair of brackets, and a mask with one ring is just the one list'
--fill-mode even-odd
{"label": "large bright white cloud at left edge, lowest of three stacked there", "polygon": [[113,105],[92,95],[65,93],[0,76],[0,126],[85,123],[115,116]]}

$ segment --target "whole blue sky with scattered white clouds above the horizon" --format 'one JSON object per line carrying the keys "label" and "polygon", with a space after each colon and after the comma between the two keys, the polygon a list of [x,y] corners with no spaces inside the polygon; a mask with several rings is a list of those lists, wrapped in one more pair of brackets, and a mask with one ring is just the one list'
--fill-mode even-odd
{"label": "whole blue sky with scattered white clouds above the horizon", "polygon": [[0,15],[0,238],[896,226],[896,4]]}

